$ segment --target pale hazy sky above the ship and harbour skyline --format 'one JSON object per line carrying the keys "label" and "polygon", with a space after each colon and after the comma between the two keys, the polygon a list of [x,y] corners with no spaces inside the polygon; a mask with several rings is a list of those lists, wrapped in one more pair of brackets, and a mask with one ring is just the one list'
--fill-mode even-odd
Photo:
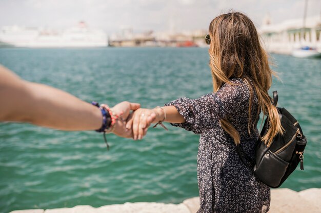
{"label": "pale hazy sky above the ship and harbour skyline", "polygon": [[[272,23],[303,18],[305,0],[0,0],[0,27],[64,29],[83,20],[107,33],[208,29],[219,14],[246,13],[257,27],[269,14]],[[321,16],[321,0],[308,1],[308,16]]]}

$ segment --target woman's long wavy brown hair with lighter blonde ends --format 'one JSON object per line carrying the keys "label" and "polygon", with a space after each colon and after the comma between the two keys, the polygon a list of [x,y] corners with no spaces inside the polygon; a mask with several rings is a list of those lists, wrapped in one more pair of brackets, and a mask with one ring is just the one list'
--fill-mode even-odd
{"label": "woman's long wavy brown hair with lighter blonde ends", "polygon": [[[253,22],[243,13],[229,12],[214,18],[209,27],[211,45],[209,49],[210,67],[213,79],[213,90],[216,92],[223,84],[233,84],[231,78],[242,78],[247,82],[250,91],[248,132],[255,128],[251,120],[251,108],[254,98],[252,81],[260,111],[269,115],[270,126],[261,138],[267,146],[273,137],[283,128],[276,107],[273,106],[268,90],[272,76],[276,73],[269,66],[268,55],[260,44],[259,36]],[[253,124],[252,124],[253,123]],[[240,143],[240,136],[227,118],[220,120],[223,129],[229,133],[235,144]]]}

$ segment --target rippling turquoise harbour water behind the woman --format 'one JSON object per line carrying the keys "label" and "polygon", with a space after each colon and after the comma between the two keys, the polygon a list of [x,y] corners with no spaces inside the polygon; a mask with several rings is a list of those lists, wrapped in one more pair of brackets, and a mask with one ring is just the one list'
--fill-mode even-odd
{"label": "rippling turquoise harbour water behind the woman", "polygon": [[[308,137],[305,170],[282,185],[321,187],[321,60],[273,55],[279,105]],[[87,101],[143,107],[211,92],[207,49],[0,49],[0,63],[22,78],[66,90]],[[271,93],[271,92],[270,92]],[[198,196],[198,135],[169,127],[140,141],[96,132],[63,132],[29,124],[0,124],[0,212],[124,202],[180,203]]]}

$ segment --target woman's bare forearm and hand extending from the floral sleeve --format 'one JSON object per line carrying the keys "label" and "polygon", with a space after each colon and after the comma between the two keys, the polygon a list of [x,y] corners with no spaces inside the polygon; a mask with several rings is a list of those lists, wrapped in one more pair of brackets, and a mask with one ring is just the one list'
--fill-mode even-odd
{"label": "woman's bare forearm and hand extending from the floral sleeve", "polygon": [[[165,116],[166,114],[166,116]],[[133,138],[142,139],[147,133],[147,129],[151,123],[159,121],[170,123],[184,123],[183,115],[179,114],[174,106],[166,106],[154,109],[138,109],[136,110],[126,124],[127,129],[132,128]]]}

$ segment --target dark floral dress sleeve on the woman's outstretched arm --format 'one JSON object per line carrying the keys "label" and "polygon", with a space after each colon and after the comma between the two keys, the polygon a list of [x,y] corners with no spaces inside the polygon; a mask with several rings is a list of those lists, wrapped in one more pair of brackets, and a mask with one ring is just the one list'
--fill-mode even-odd
{"label": "dark floral dress sleeve on the woman's outstretched arm", "polygon": [[173,126],[182,127],[195,134],[219,125],[219,120],[235,113],[243,97],[242,85],[223,85],[217,92],[206,94],[198,99],[180,98],[165,106],[175,106],[185,123]]}

